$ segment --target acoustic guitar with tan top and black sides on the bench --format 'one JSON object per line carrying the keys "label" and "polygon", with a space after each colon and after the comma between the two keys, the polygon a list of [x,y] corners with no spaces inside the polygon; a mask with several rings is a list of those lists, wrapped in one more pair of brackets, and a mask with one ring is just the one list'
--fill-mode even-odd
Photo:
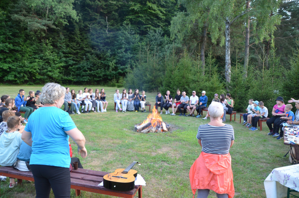
{"label": "acoustic guitar with tan top and black sides on the bench", "polygon": [[119,168],[114,173],[103,176],[104,187],[117,191],[130,191],[135,188],[137,170],[131,168],[138,162],[132,162],[126,169]]}

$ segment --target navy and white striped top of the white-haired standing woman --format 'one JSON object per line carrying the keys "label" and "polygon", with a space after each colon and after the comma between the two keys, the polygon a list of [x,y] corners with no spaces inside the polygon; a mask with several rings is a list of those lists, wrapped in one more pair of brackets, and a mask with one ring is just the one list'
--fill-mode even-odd
{"label": "navy and white striped top of the white-haired standing woman", "polygon": [[224,155],[229,152],[235,136],[234,129],[229,124],[223,127],[204,124],[198,127],[196,138],[201,140],[202,152]]}

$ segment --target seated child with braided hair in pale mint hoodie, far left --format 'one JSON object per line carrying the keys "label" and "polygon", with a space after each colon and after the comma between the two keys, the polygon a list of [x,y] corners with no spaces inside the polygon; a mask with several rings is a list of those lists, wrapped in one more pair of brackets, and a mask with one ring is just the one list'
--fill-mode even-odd
{"label": "seated child with braided hair in pale mint hoodie, far left", "polygon": [[[22,143],[22,134],[17,131],[21,129],[22,132],[25,128],[21,124],[21,119],[14,115],[10,116],[7,120],[7,131],[4,131],[0,137],[0,165],[1,166],[12,166],[17,161],[17,155],[20,150]],[[9,188],[16,186],[14,178],[10,178]]]}

